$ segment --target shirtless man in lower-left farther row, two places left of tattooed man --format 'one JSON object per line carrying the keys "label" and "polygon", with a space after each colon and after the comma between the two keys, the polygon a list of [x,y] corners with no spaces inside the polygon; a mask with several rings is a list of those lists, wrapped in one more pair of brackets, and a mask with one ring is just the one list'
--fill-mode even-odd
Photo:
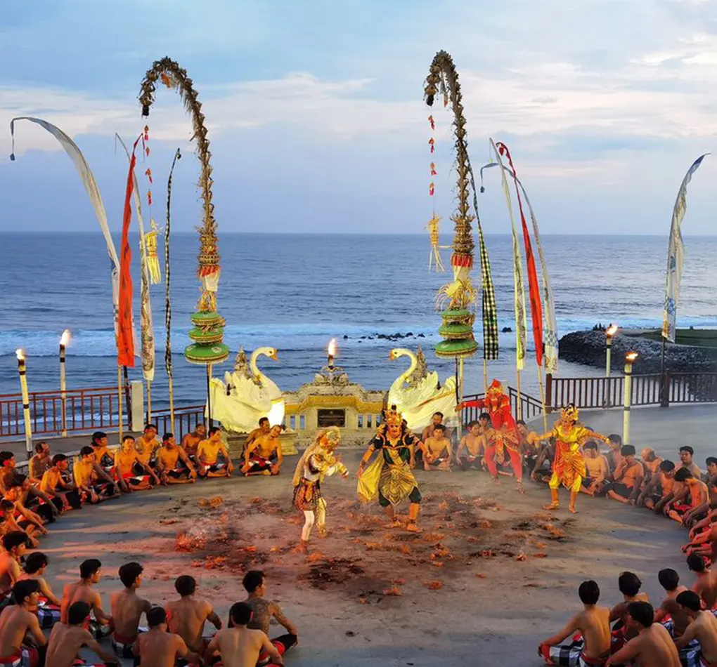
{"label": "shirtless man in lower-left farther row, two places left of tattooed man", "polygon": [[137,562],[125,563],[120,567],[120,581],[123,590],[110,598],[110,610],[114,630],[112,650],[119,658],[133,658],[132,646],[137,640],[142,614],[148,614],[152,605],[137,595],[142,585],[143,567]]}

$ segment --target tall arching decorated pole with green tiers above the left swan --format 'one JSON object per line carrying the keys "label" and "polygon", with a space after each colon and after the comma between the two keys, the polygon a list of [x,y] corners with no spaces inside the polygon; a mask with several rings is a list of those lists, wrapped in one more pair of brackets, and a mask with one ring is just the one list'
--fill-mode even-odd
{"label": "tall arching decorated pole with green tiers above the left swan", "polygon": [[[201,102],[186,69],[170,58],[163,58],[153,63],[148,69],[139,96],[142,104],[142,115],[148,116],[154,103],[156,82],[161,81],[166,87],[174,88],[179,92],[184,107],[191,115],[196,141],[196,155],[201,165],[199,188],[202,199],[201,225],[199,231],[199,267],[197,277],[201,281],[201,297],[197,302],[196,312],[191,315],[194,327],[189,332],[193,341],[184,349],[184,357],[194,364],[205,365],[207,373],[207,390],[209,378],[212,374],[212,364],[221,363],[229,357],[229,347],[224,345],[224,317],[217,312],[217,289],[219,288],[219,275],[222,268],[219,266],[219,252],[217,251],[217,221],[214,220],[214,204],[212,203],[212,165],[209,163],[212,153],[209,152],[209,140],[206,138],[204,114],[201,112]],[[209,423],[212,423],[212,410],[209,410]]]}

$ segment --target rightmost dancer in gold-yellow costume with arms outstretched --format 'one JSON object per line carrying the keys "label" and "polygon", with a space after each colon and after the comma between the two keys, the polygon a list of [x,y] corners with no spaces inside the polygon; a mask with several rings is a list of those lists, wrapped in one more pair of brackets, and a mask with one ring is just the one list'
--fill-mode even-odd
{"label": "rightmost dancer in gold-yellow costume with arms outstretched", "polygon": [[564,408],[560,421],[556,422],[552,431],[538,436],[538,440],[555,438],[555,460],[553,461],[553,476],[550,478],[550,494],[552,502],[545,509],[558,509],[560,507],[560,485],[570,490],[570,511],[575,514],[575,501],[580,491],[580,484],[586,474],[585,459],[580,451],[581,444],[587,438],[597,438],[607,442],[607,438],[585,428],[578,421],[578,408],[573,403]]}

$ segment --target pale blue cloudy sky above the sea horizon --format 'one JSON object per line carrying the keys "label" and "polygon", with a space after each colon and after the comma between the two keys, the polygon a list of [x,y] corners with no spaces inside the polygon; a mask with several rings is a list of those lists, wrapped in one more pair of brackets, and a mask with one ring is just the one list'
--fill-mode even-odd
{"label": "pale blue cloudy sky above the sea horizon", "polygon": [[[455,207],[452,117],[423,85],[445,49],[460,75],[474,168],[501,140],[543,234],[668,234],[690,163],[717,149],[717,8],[711,0],[20,0],[0,27],[0,155],[9,121],[70,135],[118,231],[146,69],[178,61],[203,102],[222,232],[422,233]],[[436,120],[436,153],[427,117]],[[152,215],[200,221],[191,122],[161,87],[148,125]],[[96,231],[71,161],[37,125],[0,160],[0,231]],[[436,195],[429,197],[435,160]],[[476,174],[478,176],[478,174]],[[715,234],[717,155],[690,185],[685,235]],[[489,234],[510,221],[485,175]]]}

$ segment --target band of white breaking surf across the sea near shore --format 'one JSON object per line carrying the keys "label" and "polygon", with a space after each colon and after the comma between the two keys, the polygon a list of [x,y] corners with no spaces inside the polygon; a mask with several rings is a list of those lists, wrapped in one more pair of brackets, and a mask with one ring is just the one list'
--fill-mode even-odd
{"label": "band of white breaking surf across the sea near shore", "polygon": [[[314,322],[299,324],[274,323],[268,325],[229,325],[224,329],[224,342],[232,351],[242,345],[245,350],[270,345],[285,352],[301,352],[304,350],[320,350],[326,347],[332,337],[338,340],[339,347],[415,347],[429,345],[440,340],[437,328],[440,320],[430,325],[412,325],[383,322],[348,324],[332,322]],[[597,322],[589,317],[566,317],[559,320],[560,335],[572,331],[592,328]],[[602,322],[607,325],[608,322]],[[657,328],[655,320],[635,318],[619,322],[627,328]],[[513,322],[501,322],[501,327],[513,328]],[[685,317],[678,322],[680,327],[712,327],[717,328],[715,317]],[[173,327],[171,345],[174,354],[181,355],[188,342],[189,327]],[[402,338],[395,337],[401,335]],[[410,334],[410,335],[409,335]],[[346,336],[346,338],[344,338]],[[380,336],[380,337],[379,337]],[[386,340],[386,336],[394,336]],[[165,331],[155,329],[156,351],[164,352]],[[476,326],[476,338],[480,342],[482,331],[480,322]],[[528,348],[532,347],[532,332],[528,330]],[[402,342],[403,341],[403,342]],[[55,330],[6,330],[0,331],[0,357],[14,356],[15,350],[22,347],[32,357],[57,356],[59,333]],[[514,350],[516,335],[514,332],[500,333],[500,347]],[[67,347],[68,357],[113,357],[116,354],[115,334],[112,329],[80,329],[72,332],[72,341]]]}

